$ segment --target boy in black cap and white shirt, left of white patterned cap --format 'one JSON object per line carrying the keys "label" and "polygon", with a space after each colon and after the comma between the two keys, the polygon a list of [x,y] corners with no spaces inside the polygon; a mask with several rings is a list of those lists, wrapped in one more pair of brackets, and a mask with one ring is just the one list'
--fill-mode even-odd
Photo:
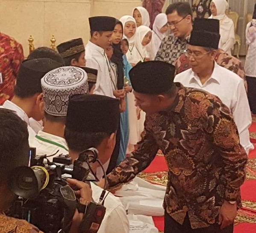
{"label": "boy in black cap and white shirt, left of white patterned cap", "polygon": [[26,122],[29,144],[36,133],[29,126],[29,118],[40,121],[43,117],[43,94],[41,78],[50,70],[62,66],[49,58],[24,60],[21,63],[12,101],[5,101],[2,108],[11,109]]}

